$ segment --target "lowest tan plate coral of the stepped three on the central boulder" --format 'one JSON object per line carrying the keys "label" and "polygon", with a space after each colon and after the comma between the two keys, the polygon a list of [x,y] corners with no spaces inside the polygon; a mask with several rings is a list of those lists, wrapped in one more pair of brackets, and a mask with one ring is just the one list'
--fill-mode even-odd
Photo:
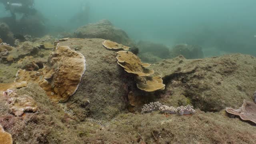
{"label": "lowest tan plate coral of the stepped three on the central boulder", "polygon": [[165,84],[161,76],[137,76],[137,87],[147,92],[153,92],[155,90],[164,90]]}

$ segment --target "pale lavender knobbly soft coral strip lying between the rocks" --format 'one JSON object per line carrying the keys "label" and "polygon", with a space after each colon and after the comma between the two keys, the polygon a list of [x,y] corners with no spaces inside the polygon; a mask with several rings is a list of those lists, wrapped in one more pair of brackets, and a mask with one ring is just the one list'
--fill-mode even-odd
{"label": "pale lavender knobbly soft coral strip lying between the rocks", "polygon": [[156,110],[169,114],[179,114],[181,116],[194,114],[196,112],[196,110],[193,109],[193,106],[190,105],[175,108],[173,106],[162,105],[160,102],[150,102],[149,104],[145,104],[143,106],[141,113],[149,113]]}

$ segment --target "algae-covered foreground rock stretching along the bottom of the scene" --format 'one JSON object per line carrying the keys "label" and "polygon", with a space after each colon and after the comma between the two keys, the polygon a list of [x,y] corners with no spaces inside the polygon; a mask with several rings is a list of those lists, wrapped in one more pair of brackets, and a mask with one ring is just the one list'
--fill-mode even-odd
{"label": "algae-covered foreground rock stretching along the bottom of the scene", "polygon": [[[0,124],[6,132],[12,134],[15,143],[186,144],[191,143],[191,140],[204,144],[226,142],[255,144],[256,142],[255,126],[238,118],[230,119],[222,112],[206,113],[198,110],[191,116],[159,112],[146,114],[124,112],[108,120],[92,117],[80,120],[76,113],[77,107],[68,103],[53,104],[44,90],[36,84],[18,89],[17,93],[34,98],[40,111],[26,113],[22,117],[14,116],[9,114],[5,102],[0,97]],[[74,98],[72,96],[71,100]],[[98,102],[100,103],[100,100]]]}

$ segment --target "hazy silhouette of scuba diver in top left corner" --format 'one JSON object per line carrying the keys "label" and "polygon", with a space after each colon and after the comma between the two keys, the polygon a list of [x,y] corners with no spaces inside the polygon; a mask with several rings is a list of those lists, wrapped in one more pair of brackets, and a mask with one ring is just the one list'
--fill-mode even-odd
{"label": "hazy silhouette of scuba diver in top left corner", "polygon": [[34,8],[34,0],[0,0],[11,16],[0,18],[6,23],[15,39],[24,40],[24,35],[41,36],[46,32],[46,18]]}

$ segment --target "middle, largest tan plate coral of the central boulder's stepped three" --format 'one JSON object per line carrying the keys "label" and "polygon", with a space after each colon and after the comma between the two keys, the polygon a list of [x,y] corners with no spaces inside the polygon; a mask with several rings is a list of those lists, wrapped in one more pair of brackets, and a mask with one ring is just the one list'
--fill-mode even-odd
{"label": "middle, largest tan plate coral of the central boulder's stepped three", "polygon": [[142,63],[140,58],[132,52],[122,50],[117,52],[118,64],[128,73],[137,74],[138,76],[150,76],[154,74],[154,70],[149,70],[146,67],[150,64]]}

